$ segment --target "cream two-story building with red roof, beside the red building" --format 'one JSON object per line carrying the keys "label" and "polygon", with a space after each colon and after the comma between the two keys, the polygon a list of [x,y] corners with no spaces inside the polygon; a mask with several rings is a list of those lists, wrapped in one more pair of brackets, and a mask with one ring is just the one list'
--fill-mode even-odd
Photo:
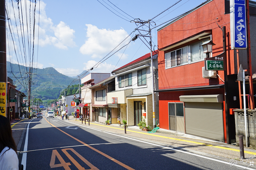
{"label": "cream two-story building with red roof, beside the red building", "polygon": [[[153,52],[153,64],[157,70],[157,53]],[[115,76],[115,91],[107,93],[108,107],[116,110],[128,126],[137,126],[144,116],[147,125],[153,127],[153,83],[150,53],[111,72]],[[156,74],[154,74],[156,75]],[[156,84],[158,84],[156,82]],[[153,93],[158,97],[158,93]],[[155,102],[155,101],[154,101]],[[155,102],[158,117],[158,103]],[[112,114],[113,115],[113,114]]]}

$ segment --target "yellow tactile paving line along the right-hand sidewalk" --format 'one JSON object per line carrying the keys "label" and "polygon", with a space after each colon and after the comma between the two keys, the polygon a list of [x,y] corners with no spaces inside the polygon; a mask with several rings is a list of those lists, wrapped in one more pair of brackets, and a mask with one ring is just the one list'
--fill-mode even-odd
{"label": "yellow tactile paving line along the right-hand sidewalk", "polygon": [[[81,122],[81,121],[80,121],[80,122]],[[106,125],[101,125],[101,124],[96,124],[96,123],[91,123],[91,124],[98,125],[98,126],[105,126],[105,127],[109,127],[109,128],[113,128],[113,129],[120,129],[120,128],[115,128],[115,127],[106,126]],[[128,129],[126,129],[126,131],[135,132],[135,133],[141,133],[141,134],[144,134],[144,135],[151,135],[151,136],[155,136],[155,137],[162,137],[162,138],[166,138],[166,139],[178,140],[178,141],[183,141],[183,142],[188,142],[188,143],[193,143],[193,144],[201,144],[201,145],[205,145],[205,146],[210,146],[210,147],[220,148],[220,149],[226,149],[226,150],[230,150],[230,151],[240,152],[239,149],[232,149],[232,148],[227,148],[227,147],[223,147],[223,146],[213,146],[213,145],[211,145],[211,144],[204,144],[204,143],[194,142],[194,141],[189,141],[189,140],[184,140],[184,139],[177,139],[177,138],[172,138],[172,137],[165,137],[165,136],[161,136],[161,135],[155,135],[155,134],[151,134],[151,133],[149,134],[149,133],[145,133],[145,132],[138,132],[138,131],[128,130]],[[244,151],[244,153],[256,155],[256,152]]]}

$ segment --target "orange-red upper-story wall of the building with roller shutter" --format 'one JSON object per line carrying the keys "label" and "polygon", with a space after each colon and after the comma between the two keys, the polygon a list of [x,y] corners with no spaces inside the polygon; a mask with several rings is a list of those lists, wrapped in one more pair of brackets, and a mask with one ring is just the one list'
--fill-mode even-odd
{"label": "orange-red upper-story wall of the building with roller shutter", "polygon": [[[180,18],[171,25],[158,31],[159,49],[182,41],[197,33],[211,30],[213,43],[216,44],[212,47],[212,54],[213,56],[217,56],[223,52],[222,30],[219,26],[221,26],[221,28],[226,26],[226,39],[228,44],[226,49],[230,50],[230,18],[229,14],[224,14],[224,12],[224,0],[213,0],[187,16]],[[184,45],[176,48],[181,47],[184,47]],[[176,48],[171,49],[171,51]],[[159,51],[158,55],[159,89],[224,84],[221,80],[224,80],[224,71],[218,71],[221,79],[206,79],[202,77],[204,61],[165,70],[164,53],[164,51]],[[234,60],[234,51],[227,51],[228,75],[236,74]]]}

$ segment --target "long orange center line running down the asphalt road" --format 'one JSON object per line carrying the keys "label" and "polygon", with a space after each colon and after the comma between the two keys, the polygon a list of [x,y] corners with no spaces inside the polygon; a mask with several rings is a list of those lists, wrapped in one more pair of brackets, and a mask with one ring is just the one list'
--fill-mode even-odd
{"label": "long orange center line running down the asphalt road", "polygon": [[[45,119],[45,118],[44,118],[44,119]],[[46,119],[45,119],[45,120],[46,120]],[[47,121],[47,120],[46,120],[46,121]],[[47,121],[47,122],[48,122],[48,121]],[[99,151],[99,150],[93,148],[92,146],[90,146],[90,145],[84,143],[83,141],[81,141],[81,140],[79,140],[79,139],[77,139],[77,138],[75,138],[75,137],[69,135],[68,133],[66,133],[66,132],[64,132],[63,130],[61,130],[61,129],[57,128],[56,126],[54,126],[52,123],[50,123],[50,122],[48,122],[48,123],[49,123],[50,125],[52,125],[54,128],[56,128],[56,129],[60,130],[61,132],[65,133],[65,134],[68,135],[69,137],[75,139],[77,142],[80,142],[81,144],[84,144],[84,145],[87,146],[88,148],[92,149],[92,150],[95,151],[95,152],[100,153],[101,155],[103,155],[103,156],[105,156],[106,158],[108,158],[108,159],[110,159],[110,160],[116,162],[117,164],[123,166],[124,168],[130,169],[130,170],[134,170],[134,169],[131,168],[130,166],[127,166],[127,165],[125,165],[124,163],[122,163],[122,162],[120,162],[120,161],[118,161],[118,160],[112,158],[111,156],[107,155],[106,153],[103,153],[103,152],[101,152],[101,151]]]}

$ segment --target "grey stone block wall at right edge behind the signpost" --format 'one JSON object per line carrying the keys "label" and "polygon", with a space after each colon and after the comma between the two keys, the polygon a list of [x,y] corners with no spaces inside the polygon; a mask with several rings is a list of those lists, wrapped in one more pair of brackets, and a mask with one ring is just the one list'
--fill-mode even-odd
{"label": "grey stone block wall at right edge behind the signpost", "polygon": [[[245,145],[244,109],[235,109],[236,143],[243,136]],[[256,110],[246,109],[248,146],[256,147]]]}

